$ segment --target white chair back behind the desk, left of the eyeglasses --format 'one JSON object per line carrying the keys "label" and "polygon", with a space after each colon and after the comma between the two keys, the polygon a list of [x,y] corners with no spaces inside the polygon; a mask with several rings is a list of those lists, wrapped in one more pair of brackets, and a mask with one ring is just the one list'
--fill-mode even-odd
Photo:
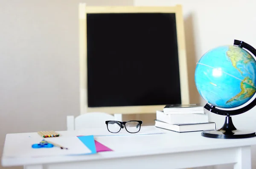
{"label": "white chair back behind the desk, left of the eyeglasses", "polygon": [[104,128],[107,127],[105,123],[107,120],[115,120],[115,118],[113,115],[101,112],[85,113],[77,116],[76,118],[73,116],[67,116],[67,130]]}

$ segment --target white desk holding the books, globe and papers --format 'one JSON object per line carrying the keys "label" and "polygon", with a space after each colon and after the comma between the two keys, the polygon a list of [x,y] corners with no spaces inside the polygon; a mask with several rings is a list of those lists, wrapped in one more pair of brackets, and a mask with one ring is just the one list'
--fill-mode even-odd
{"label": "white desk holding the books, globe and papers", "polygon": [[[97,141],[113,149],[93,155],[2,158],[3,166],[21,166],[25,169],[181,169],[234,163],[234,169],[251,169],[250,146],[255,138],[205,138],[201,132],[177,133],[163,130],[164,134],[100,136]],[[80,135],[78,131],[59,131],[66,136]],[[87,133],[84,131],[83,133]],[[91,133],[91,130],[90,130]],[[17,133],[19,137],[37,133]],[[6,140],[9,142],[11,140]],[[6,143],[5,143],[6,144]]]}

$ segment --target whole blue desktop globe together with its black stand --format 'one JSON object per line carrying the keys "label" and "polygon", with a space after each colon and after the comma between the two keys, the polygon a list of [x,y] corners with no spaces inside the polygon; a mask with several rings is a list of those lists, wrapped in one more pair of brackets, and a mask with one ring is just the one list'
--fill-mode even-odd
{"label": "whole blue desktop globe together with its black stand", "polygon": [[204,108],[226,116],[220,129],[204,130],[201,132],[203,137],[256,137],[253,130],[237,130],[232,121],[233,115],[245,113],[256,106],[256,98],[252,99],[256,92],[256,61],[251,54],[256,56],[255,48],[235,39],[233,45],[213,48],[198,61],[195,85],[207,101]]}

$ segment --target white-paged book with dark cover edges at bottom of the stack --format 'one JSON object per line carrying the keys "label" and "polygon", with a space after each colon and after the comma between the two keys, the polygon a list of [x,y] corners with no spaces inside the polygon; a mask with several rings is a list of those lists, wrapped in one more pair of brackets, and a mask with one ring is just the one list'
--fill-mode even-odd
{"label": "white-paged book with dark cover edges at bottom of the stack", "polygon": [[168,124],[163,121],[155,120],[155,127],[172,130],[175,132],[196,132],[204,130],[216,130],[214,122],[197,123],[197,124]]}

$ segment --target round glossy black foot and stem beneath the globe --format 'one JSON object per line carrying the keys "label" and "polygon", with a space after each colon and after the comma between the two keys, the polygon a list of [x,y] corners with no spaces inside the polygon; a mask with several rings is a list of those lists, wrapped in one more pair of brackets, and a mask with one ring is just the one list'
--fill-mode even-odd
{"label": "round glossy black foot and stem beneath the globe", "polygon": [[251,138],[256,133],[250,130],[237,130],[230,115],[226,116],[225,123],[219,130],[206,130],[201,132],[203,137],[209,138]]}

